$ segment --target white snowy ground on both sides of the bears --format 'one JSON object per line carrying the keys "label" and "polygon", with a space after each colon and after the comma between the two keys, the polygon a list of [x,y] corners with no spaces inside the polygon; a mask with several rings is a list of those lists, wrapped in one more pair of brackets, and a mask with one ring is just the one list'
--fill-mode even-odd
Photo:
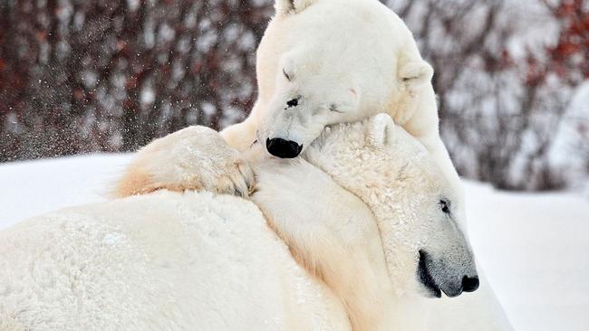
{"label": "white snowy ground on both sides of the bears", "polygon": [[[0,228],[104,200],[129,156],[0,165]],[[589,330],[589,200],[467,183],[469,234],[516,330]]]}

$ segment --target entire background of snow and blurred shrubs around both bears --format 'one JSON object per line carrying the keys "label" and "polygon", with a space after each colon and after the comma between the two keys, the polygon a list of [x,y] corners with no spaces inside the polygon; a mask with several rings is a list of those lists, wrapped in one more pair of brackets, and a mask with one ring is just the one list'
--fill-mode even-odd
{"label": "entire background of snow and blurred shrubs around both bears", "polygon": [[[384,4],[435,68],[468,236],[507,317],[589,330],[589,0]],[[246,118],[273,5],[0,0],[0,229],[104,201],[121,152]]]}

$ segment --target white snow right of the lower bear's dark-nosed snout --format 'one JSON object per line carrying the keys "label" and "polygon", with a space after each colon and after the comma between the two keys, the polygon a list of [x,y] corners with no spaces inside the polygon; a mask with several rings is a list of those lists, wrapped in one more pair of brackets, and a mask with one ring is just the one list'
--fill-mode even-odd
{"label": "white snow right of the lower bear's dark-nosed snout", "polygon": [[469,235],[515,330],[589,329],[589,201],[468,183]]}

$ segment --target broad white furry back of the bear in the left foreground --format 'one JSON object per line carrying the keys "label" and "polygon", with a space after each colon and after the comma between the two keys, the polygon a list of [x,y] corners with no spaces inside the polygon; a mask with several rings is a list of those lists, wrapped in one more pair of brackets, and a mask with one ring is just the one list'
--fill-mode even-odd
{"label": "broad white furry back of the bear in the left foreground", "polygon": [[254,203],[161,191],[0,232],[0,330],[350,330]]}

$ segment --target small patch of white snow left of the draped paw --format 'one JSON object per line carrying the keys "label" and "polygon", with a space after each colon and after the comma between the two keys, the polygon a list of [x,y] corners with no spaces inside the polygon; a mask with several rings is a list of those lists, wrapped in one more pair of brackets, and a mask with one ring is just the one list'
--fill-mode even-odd
{"label": "small patch of white snow left of the draped paw", "polygon": [[129,156],[73,156],[0,164],[0,228],[55,209],[103,201]]}

